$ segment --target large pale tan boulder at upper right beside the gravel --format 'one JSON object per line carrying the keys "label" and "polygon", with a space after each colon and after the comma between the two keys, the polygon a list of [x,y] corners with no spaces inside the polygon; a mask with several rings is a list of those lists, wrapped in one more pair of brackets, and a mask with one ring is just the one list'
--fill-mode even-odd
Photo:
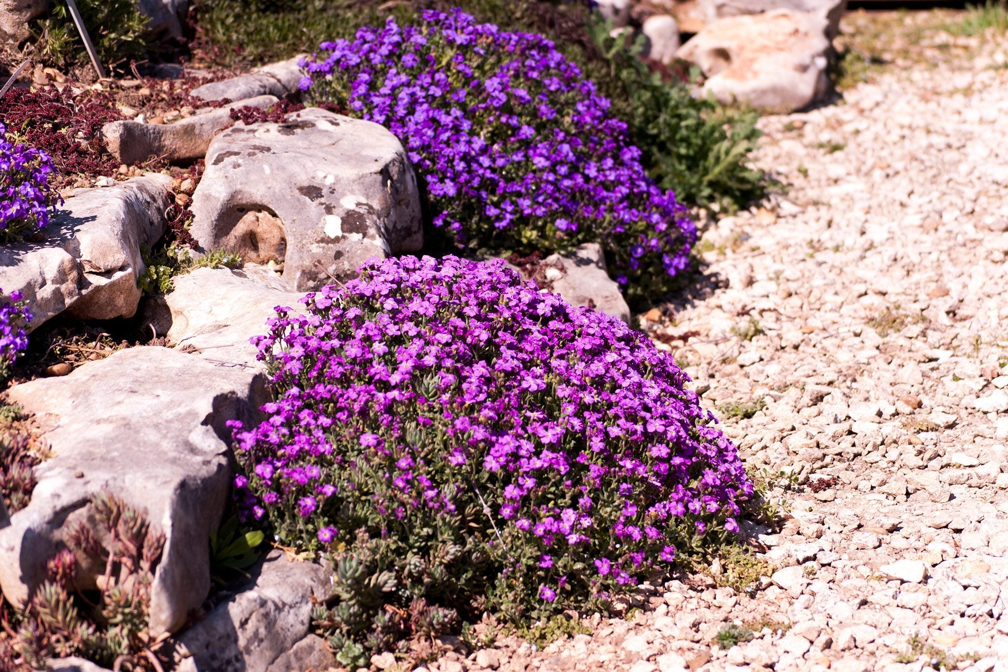
{"label": "large pale tan boulder at upper right beside the gravel", "polygon": [[833,52],[827,19],[776,9],[731,16],[708,24],[678,50],[709,78],[704,93],[765,112],[793,112],[830,89],[827,65]]}

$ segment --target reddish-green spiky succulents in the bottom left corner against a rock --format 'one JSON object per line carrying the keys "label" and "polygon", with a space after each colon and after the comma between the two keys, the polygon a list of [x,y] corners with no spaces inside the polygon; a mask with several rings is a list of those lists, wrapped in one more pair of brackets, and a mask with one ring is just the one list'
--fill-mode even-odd
{"label": "reddish-green spiky succulents in the bottom left corner against a rock", "polygon": [[[150,636],[147,620],[164,536],[111,495],[96,496],[91,514],[97,529],[80,521],[69,548],[49,560],[47,580],[23,610],[3,615],[16,637],[0,639],[0,661],[46,669],[48,658],[82,656],[117,670],[163,669],[156,652],[164,639]],[[96,579],[97,599],[77,585],[85,557],[105,567]]]}

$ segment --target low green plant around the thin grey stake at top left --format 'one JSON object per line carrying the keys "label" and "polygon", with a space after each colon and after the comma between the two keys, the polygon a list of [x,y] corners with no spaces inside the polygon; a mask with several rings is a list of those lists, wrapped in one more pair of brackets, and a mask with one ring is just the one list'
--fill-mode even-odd
{"label": "low green plant around the thin grey stake at top left", "polygon": [[[135,0],[78,0],[84,25],[98,50],[98,57],[110,70],[140,58],[146,52],[147,18]],[[65,1],[57,1],[51,13],[34,26],[38,56],[58,68],[89,62],[84,41]]]}

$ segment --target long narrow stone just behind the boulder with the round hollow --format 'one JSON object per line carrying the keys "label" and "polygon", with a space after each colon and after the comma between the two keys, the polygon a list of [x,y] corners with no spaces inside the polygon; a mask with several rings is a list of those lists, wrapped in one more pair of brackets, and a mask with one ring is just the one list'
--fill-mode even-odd
{"label": "long narrow stone just behind the boulder with the round hollow", "polygon": [[168,161],[201,158],[218,133],[235,125],[231,110],[244,106],[266,110],[276,102],[275,96],[257,96],[173,124],[113,121],[102,127],[102,139],[109,152],[122,163],[146,161],[154,156],[163,156]]}

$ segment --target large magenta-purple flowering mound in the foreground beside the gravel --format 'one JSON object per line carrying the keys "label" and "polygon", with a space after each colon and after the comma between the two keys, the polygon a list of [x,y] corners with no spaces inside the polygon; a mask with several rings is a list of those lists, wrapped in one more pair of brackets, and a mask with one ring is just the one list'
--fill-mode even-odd
{"label": "large magenta-purple flowering mound in the foreground beside the gravel", "polygon": [[618,319],[453,256],[305,303],[253,340],[275,401],[236,425],[235,485],[281,543],[333,556],[316,618],[343,664],[484,610],[600,607],[737,531],[736,447]]}

